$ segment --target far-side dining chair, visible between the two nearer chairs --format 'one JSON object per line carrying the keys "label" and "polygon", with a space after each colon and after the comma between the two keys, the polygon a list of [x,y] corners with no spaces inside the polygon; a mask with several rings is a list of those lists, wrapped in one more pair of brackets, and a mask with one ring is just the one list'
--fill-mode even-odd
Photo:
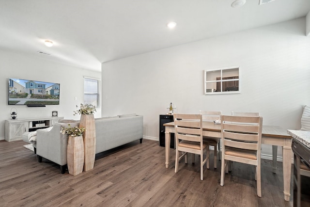
{"label": "far-side dining chair, visible between the two nearer chairs", "polygon": [[[202,121],[203,122],[214,122],[215,120],[220,120],[220,115],[222,111],[202,111],[200,110],[200,114],[202,114]],[[207,142],[209,146],[214,147],[214,168],[217,168],[217,145],[218,151],[220,152],[220,139],[217,137],[206,137],[203,136],[203,141]],[[220,153],[219,153],[220,158]],[[210,150],[209,150],[209,159],[210,159]],[[207,169],[209,169],[209,159],[207,161]]]}

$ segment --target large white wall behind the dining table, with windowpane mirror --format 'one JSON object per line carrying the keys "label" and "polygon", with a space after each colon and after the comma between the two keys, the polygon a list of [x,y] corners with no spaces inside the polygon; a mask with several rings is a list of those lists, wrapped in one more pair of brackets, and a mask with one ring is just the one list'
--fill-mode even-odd
{"label": "large white wall behind the dining table, with windowpane mirror", "polygon": [[[299,129],[310,104],[310,38],[305,18],[102,64],[102,116],[138,113],[158,138],[159,114],[258,111],[264,125]],[[240,66],[241,94],[203,95],[203,70]],[[271,147],[264,147],[271,154]],[[280,151],[280,150],[279,150]]]}

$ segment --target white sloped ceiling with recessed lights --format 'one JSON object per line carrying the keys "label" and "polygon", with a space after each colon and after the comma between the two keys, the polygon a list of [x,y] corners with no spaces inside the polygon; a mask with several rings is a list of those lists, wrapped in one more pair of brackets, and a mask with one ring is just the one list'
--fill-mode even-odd
{"label": "white sloped ceiling with recessed lights", "polygon": [[[0,0],[0,49],[85,69],[306,16],[310,0]],[[173,30],[169,21],[177,23]],[[44,40],[54,46],[47,48]],[[51,55],[40,54],[43,51]]]}

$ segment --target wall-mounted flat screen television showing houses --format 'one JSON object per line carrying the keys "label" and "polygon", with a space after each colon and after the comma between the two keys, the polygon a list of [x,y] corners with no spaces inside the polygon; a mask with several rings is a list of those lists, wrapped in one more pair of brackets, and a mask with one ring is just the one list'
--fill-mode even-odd
{"label": "wall-mounted flat screen television showing houses", "polygon": [[60,84],[9,78],[9,105],[59,105]]}

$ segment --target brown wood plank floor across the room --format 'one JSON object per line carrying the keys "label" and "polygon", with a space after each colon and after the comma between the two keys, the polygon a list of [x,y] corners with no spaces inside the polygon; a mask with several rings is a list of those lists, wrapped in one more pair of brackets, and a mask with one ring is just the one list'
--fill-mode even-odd
{"label": "brown wood plank floor across the room", "polygon": [[[58,165],[23,147],[23,141],[0,141],[0,206],[86,206],[86,207],[291,207],[284,201],[282,164],[272,173],[271,160],[262,159],[262,197],[256,194],[254,167],[233,163],[232,173],[220,186],[217,169],[180,161],[165,168],[165,148],[143,140],[96,156],[93,170],[72,176],[60,173]],[[174,157],[171,151],[171,158]],[[213,157],[213,156],[212,156]],[[292,167],[293,169],[293,167]],[[292,174],[293,175],[293,174]]]}

